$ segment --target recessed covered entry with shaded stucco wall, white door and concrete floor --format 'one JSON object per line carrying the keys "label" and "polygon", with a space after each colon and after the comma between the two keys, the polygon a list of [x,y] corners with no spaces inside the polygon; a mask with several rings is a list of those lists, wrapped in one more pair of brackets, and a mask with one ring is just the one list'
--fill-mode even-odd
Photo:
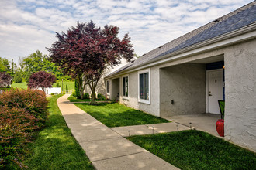
{"label": "recessed covered entry with shaded stucco wall, white door and concrete floor", "polygon": [[224,100],[223,56],[160,69],[160,116],[216,133],[218,100]]}

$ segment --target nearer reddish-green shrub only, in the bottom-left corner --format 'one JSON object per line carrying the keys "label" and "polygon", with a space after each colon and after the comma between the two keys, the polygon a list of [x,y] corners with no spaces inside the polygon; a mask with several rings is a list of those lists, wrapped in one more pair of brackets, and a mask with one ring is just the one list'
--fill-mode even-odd
{"label": "nearer reddish-green shrub only, in the bottom-left corner", "polygon": [[33,132],[39,127],[36,117],[25,108],[0,106],[0,168],[20,163],[22,147],[31,141]]}

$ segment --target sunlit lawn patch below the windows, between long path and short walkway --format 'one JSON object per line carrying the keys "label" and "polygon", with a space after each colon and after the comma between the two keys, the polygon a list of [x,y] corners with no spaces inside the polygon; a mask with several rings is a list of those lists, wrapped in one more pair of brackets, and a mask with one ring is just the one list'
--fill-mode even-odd
{"label": "sunlit lawn patch below the windows, between long path and short walkway", "polygon": [[75,104],[92,117],[102,122],[108,127],[130,126],[137,124],[158,124],[169,122],[161,117],[154,117],[145,114],[140,110],[134,110],[130,107],[118,103],[99,103],[90,105],[87,103]]}

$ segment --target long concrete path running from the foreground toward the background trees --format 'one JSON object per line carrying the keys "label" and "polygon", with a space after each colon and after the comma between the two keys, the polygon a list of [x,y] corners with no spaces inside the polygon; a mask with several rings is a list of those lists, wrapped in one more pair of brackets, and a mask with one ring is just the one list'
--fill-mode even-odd
{"label": "long concrete path running from the foreground toward the background trees", "polygon": [[[120,135],[120,131],[116,133],[117,130],[113,131],[113,128],[106,127],[71,104],[67,97],[69,94],[57,100],[58,107],[74,138],[85,150],[96,169],[178,169],[126,140]],[[131,132],[133,133],[132,130]]]}

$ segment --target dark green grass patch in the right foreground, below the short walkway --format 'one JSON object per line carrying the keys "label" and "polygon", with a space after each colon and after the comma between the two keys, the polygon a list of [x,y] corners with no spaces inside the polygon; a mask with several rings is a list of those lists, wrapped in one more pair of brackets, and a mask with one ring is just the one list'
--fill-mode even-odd
{"label": "dark green grass patch in the right foreground, below the short walkway", "polygon": [[128,138],[181,169],[255,169],[256,154],[202,131]]}

